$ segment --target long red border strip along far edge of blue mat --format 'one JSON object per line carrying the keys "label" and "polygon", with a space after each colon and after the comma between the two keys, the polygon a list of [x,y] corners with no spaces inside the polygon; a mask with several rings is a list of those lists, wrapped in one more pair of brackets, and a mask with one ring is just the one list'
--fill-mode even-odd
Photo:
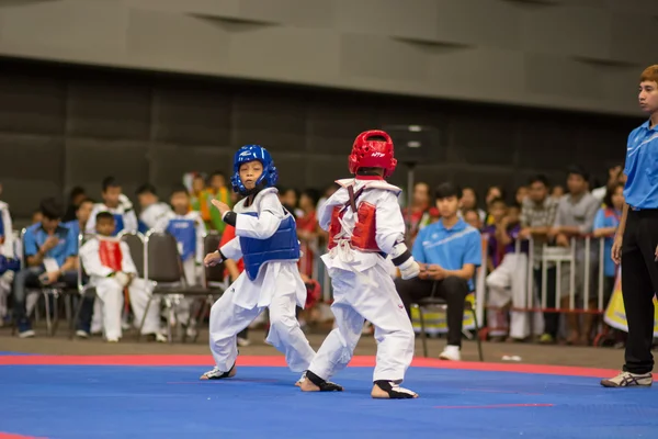
{"label": "long red border strip along far edge of blue mat", "polygon": [[[213,364],[211,356],[180,354],[132,354],[132,356],[2,356],[0,365],[141,365],[141,367],[175,367]],[[242,367],[286,367],[281,356],[240,356],[238,365]],[[372,368],[375,365],[374,356],[354,357],[350,367]],[[576,368],[567,365],[519,364],[519,363],[485,363],[466,361],[441,361],[431,358],[416,358],[411,363],[417,368],[434,368],[446,370],[473,370],[488,372],[540,373],[548,375],[594,376],[609,378],[619,373],[612,369]]]}

